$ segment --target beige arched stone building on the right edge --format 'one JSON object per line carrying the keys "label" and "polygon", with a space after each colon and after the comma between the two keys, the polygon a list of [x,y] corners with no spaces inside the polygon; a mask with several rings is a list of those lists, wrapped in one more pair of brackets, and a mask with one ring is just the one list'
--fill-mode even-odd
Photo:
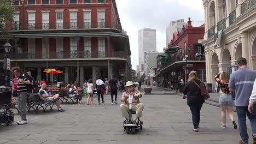
{"label": "beige arched stone building on the right edge", "polygon": [[236,65],[240,57],[247,59],[249,68],[256,69],[255,4],[254,0],[203,0],[202,44],[206,53],[207,83],[213,83],[213,87],[214,75],[229,65]]}

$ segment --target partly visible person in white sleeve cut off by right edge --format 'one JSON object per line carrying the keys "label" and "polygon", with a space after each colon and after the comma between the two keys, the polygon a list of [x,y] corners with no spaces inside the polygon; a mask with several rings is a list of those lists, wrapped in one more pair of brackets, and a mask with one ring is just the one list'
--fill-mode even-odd
{"label": "partly visible person in white sleeve cut off by right edge", "polygon": [[[251,97],[249,100],[250,101],[249,101],[249,105],[248,105],[248,111],[250,113],[252,113],[252,115],[255,116],[255,113],[256,113],[256,110],[255,110],[256,109],[256,79],[254,81],[253,91],[252,91],[252,94],[251,94]],[[254,110],[253,110],[253,107],[254,107]],[[253,136],[253,141],[254,141],[254,144],[256,144],[256,135],[255,134]]]}

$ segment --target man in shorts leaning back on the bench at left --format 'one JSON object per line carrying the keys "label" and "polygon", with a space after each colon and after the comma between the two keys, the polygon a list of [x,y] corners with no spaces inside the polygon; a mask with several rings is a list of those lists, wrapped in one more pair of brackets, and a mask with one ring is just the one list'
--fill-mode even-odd
{"label": "man in shorts leaning back on the bench at left", "polygon": [[40,96],[40,98],[44,101],[44,102],[48,102],[48,101],[55,101],[56,106],[58,107],[58,112],[63,112],[65,110],[61,109],[60,107],[60,94],[55,94],[55,95],[49,95],[45,89],[46,89],[47,85],[45,83],[43,83],[41,89],[39,90],[38,94]]}

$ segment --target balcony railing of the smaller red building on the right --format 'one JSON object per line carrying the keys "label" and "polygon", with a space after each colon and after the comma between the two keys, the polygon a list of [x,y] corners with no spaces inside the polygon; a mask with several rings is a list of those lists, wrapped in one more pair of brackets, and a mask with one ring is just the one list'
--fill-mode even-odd
{"label": "balcony railing of the smaller red building on the right", "polygon": [[[185,61],[183,61],[183,58],[184,58],[184,55],[183,54],[178,54],[178,55],[174,55],[174,56],[171,56],[170,59],[168,59],[168,61],[165,61],[164,64],[161,65],[161,69],[162,68],[165,68],[167,67],[168,65],[171,65],[175,62],[179,62],[179,61],[182,61],[185,63]],[[195,54],[191,54],[191,55],[188,55],[188,61],[205,61],[205,55],[202,55],[202,56],[198,56],[198,57],[195,57]]]}

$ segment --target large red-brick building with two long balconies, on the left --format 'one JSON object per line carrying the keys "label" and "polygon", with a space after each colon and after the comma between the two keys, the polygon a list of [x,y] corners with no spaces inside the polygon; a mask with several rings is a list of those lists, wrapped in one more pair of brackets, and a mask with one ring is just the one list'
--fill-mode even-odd
{"label": "large red-brick building with two long balconies, on the left", "polygon": [[51,68],[63,71],[54,75],[60,82],[82,84],[112,74],[131,79],[129,37],[122,31],[115,0],[21,0],[12,5],[14,22],[5,22],[10,34],[0,35],[0,45],[10,39],[13,46],[12,66],[31,70],[38,81],[52,81],[43,73]]}

